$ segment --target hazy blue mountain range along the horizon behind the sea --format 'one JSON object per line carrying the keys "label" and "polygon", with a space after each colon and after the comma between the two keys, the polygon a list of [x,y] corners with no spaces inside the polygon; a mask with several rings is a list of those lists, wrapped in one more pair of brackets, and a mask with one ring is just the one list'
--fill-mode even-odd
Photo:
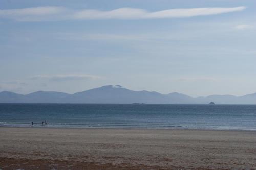
{"label": "hazy blue mountain range along the horizon behind the sea", "polygon": [[209,95],[191,97],[173,92],[161,94],[155,91],[133,91],[120,85],[108,85],[68,94],[55,91],[36,91],[29,94],[0,92],[0,103],[145,103],[145,104],[256,104],[256,93],[243,96]]}

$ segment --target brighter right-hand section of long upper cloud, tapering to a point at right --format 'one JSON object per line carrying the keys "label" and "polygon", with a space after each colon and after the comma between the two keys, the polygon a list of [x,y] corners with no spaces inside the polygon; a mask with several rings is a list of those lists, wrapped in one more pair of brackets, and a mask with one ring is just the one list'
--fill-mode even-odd
{"label": "brighter right-hand section of long upper cloud, tapering to a point at right", "polygon": [[187,8],[168,9],[156,12],[148,12],[137,8],[119,8],[111,11],[83,10],[76,12],[77,19],[153,19],[153,18],[179,18],[202,15],[215,15],[228,12],[242,11],[246,7],[234,8]]}

